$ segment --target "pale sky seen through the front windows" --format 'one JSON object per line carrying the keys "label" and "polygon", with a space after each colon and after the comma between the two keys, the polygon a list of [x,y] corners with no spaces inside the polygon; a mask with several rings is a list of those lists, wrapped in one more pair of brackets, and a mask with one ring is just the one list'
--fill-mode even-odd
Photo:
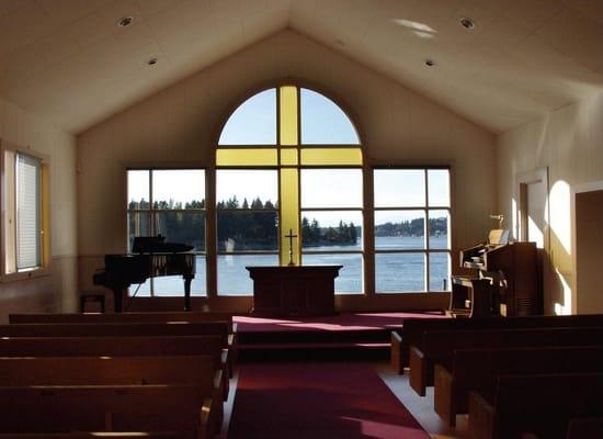
{"label": "pale sky seen through the front windows", "polygon": [[[302,89],[302,140],[304,144],[360,144],[354,126],[337,104],[323,95]],[[270,89],[243,102],[227,121],[219,143],[223,145],[276,144],[276,91]],[[368,176],[366,176],[368,178]],[[276,170],[217,170],[216,200],[236,195],[242,202],[260,198],[277,200]],[[448,170],[428,171],[430,206],[450,205]],[[303,169],[302,209],[362,207],[361,169]],[[153,200],[185,203],[205,193],[204,170],[155,170]],[[149,172],[128,171],[128,202],[149,200]],[[425,173],[413,169],[375,169],[375,207],[409,207],[425,204]],[[345,214],[351,221],[359,213]],[[316,216],[316,214],[315,214]],[[325,225],[337,225],[341,214],[321,214]],[[412,219],[420,212],[380,211],[377,224]],[[320,222],[321,225],[322,222]],[[354,221],[354,223],[356,223]]]}

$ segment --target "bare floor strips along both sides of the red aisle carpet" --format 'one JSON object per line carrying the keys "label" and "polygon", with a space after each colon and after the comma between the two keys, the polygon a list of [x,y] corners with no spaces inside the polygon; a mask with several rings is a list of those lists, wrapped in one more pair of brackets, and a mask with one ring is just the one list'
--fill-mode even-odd
{"label": "bare floor strips along both sides of the red aisle carpet", "polygon": [[[345,363],[341,363],[342,368]],[[412,413],[421,426],[430,432],[434,439],[465,439],[467,438],[467,419],[465,416],[457,418],[456,429],[450,429],[445,423],[435,414],[433,409],[433,387],[428,389],[428,394],[424,397],[417,395],[408,384],[408,374],[396,375],[389,363],[374,363],[375,370],[379,373],[384,382],[391,392],[400,399],[400,402]],[[228,426],[230,424],[230,415],[232,413],[232,403],[237,393],[238,373],[235,371],[234,378],[230,380],[230,394],[225,404],[225,419],[223,431],[219,439],[227,439]]]}

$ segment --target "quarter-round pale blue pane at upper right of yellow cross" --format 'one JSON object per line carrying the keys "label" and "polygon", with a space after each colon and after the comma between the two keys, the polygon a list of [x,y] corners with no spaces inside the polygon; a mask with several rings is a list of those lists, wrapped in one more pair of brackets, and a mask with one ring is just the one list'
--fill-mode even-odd
{"label": "quarter-round pale blue pane at upper right of yellow cross", "polygon": [[330,99],[302,89],[302,143],[305,145],[359,145],[348,115]]}

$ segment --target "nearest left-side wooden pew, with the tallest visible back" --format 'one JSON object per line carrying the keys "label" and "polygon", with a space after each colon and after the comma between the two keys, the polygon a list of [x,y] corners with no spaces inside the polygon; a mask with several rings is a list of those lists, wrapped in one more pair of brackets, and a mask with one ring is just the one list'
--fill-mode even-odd
{"label": "nearest left-side wooden pew, with the tallest visible back", "polygon": [[0,387],[0,431],[174,431],[214,436],[211,396],[195,385]]}

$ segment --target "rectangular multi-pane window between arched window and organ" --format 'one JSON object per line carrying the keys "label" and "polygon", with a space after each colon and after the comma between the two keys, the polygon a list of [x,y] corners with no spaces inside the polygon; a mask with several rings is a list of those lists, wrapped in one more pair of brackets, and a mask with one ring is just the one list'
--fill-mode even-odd
{"label": "rectangular multi-pane window between arched window and organ", "polygon": [[[447,290],[451,259],[448,169],[375,168],[374,191],[376,292]],[[397,243],[384,244],[384,240]],[[417,248],[400,248],[409,245]],[[392,248],[385,248],[387,246]],[[398,275],[392,277],[392,272]]]}

